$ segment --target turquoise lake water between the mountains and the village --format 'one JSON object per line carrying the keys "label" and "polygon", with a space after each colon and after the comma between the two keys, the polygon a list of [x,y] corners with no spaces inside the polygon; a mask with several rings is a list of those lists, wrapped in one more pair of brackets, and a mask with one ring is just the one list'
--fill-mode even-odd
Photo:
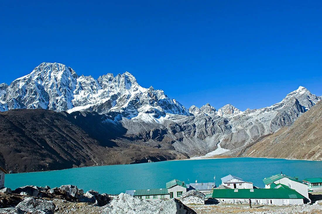
{"label": "turquoise lake water between the mountains and the village", "polygon": [[232,174],[255,186],[264,187],[262,179],[280,172],[299,179],[322,177],[322,161],[300,161],[267,158],[223,158],[206,160],[164,161],[130,165],[94,166],[49,172],[7,174],[5,186],[15,189],[25,185],[51,188],[63,184],[77,185],[84,191],[118,194],[126,190],[166,186],[172,179],[186,183],[213,182]]}

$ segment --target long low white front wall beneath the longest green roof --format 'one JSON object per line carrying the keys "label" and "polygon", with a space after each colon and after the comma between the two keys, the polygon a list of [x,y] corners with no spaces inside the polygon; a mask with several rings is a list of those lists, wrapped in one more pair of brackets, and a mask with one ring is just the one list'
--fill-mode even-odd
{"label": "long low white front wall beneath the longest green roof", "polygon": [[[242,203],[248,204],[248,199],[223,199],[216,198],[220,203],[234,204],[234,203]],[[268,201],[269,200],[269,201]],[[304,204],[303,199],[251,199],[251,204],[270,204],[270,200],[272,200],[272,205],[298,205]]]}

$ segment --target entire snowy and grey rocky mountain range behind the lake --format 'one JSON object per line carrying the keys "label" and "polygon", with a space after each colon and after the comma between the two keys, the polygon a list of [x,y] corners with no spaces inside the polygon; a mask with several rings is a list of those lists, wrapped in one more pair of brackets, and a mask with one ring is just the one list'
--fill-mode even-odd
{"label": "entire snowy and grey rocky mountain range behind the lake", "polygon": [[[187,109],[162,90],[141,87],[128,72],[94,79],[78,76],[73,69],[59,63],[42,63],[10,85],[0,84],[2,112],[40,108],[65,111],[68,117],[93,112],[91,119],[103,124],[104,130],[122,130],[116,131],[115,135],[106,135],[105,141],[115,143],[112,148],[128,145],[156,148],[162,153],[158,154],[158,159],[203,155],[216,150],[219,144],[225,149],[224,154],[241,154],[254,142],[281,127],[291,126],[321,99],[300,86],[270,107],[241,111],[227,104],[216,110],[206,104],[201,108],[191,106]],[[102,130],[100,133],[104,135]],[[99,141],[104,144],[102,139]],[[174,152],[169,155],[169,151]],[[166,157],[160,158],[162,155]],[[147,160],[148,157],[142,158]],[[133,162],[140,161],[135,159]],[[99,164],[108,163],[92,163]]]}

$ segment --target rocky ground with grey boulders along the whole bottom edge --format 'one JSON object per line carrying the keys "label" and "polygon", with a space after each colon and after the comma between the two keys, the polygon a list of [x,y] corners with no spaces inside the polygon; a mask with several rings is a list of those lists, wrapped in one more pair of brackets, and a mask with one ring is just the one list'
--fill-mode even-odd
{"label": "rocky ground with grey boulders along the whole bottom edge", "polygon": [[0,214],[212,214],[212,213],[322,213],[321,195],[314,204],[302,206],[260,206],[244,204],[183,204],[180,200],[146,201],[121,193],[84,193],[73,185],[59,188],[24,186],[0,190]]}

